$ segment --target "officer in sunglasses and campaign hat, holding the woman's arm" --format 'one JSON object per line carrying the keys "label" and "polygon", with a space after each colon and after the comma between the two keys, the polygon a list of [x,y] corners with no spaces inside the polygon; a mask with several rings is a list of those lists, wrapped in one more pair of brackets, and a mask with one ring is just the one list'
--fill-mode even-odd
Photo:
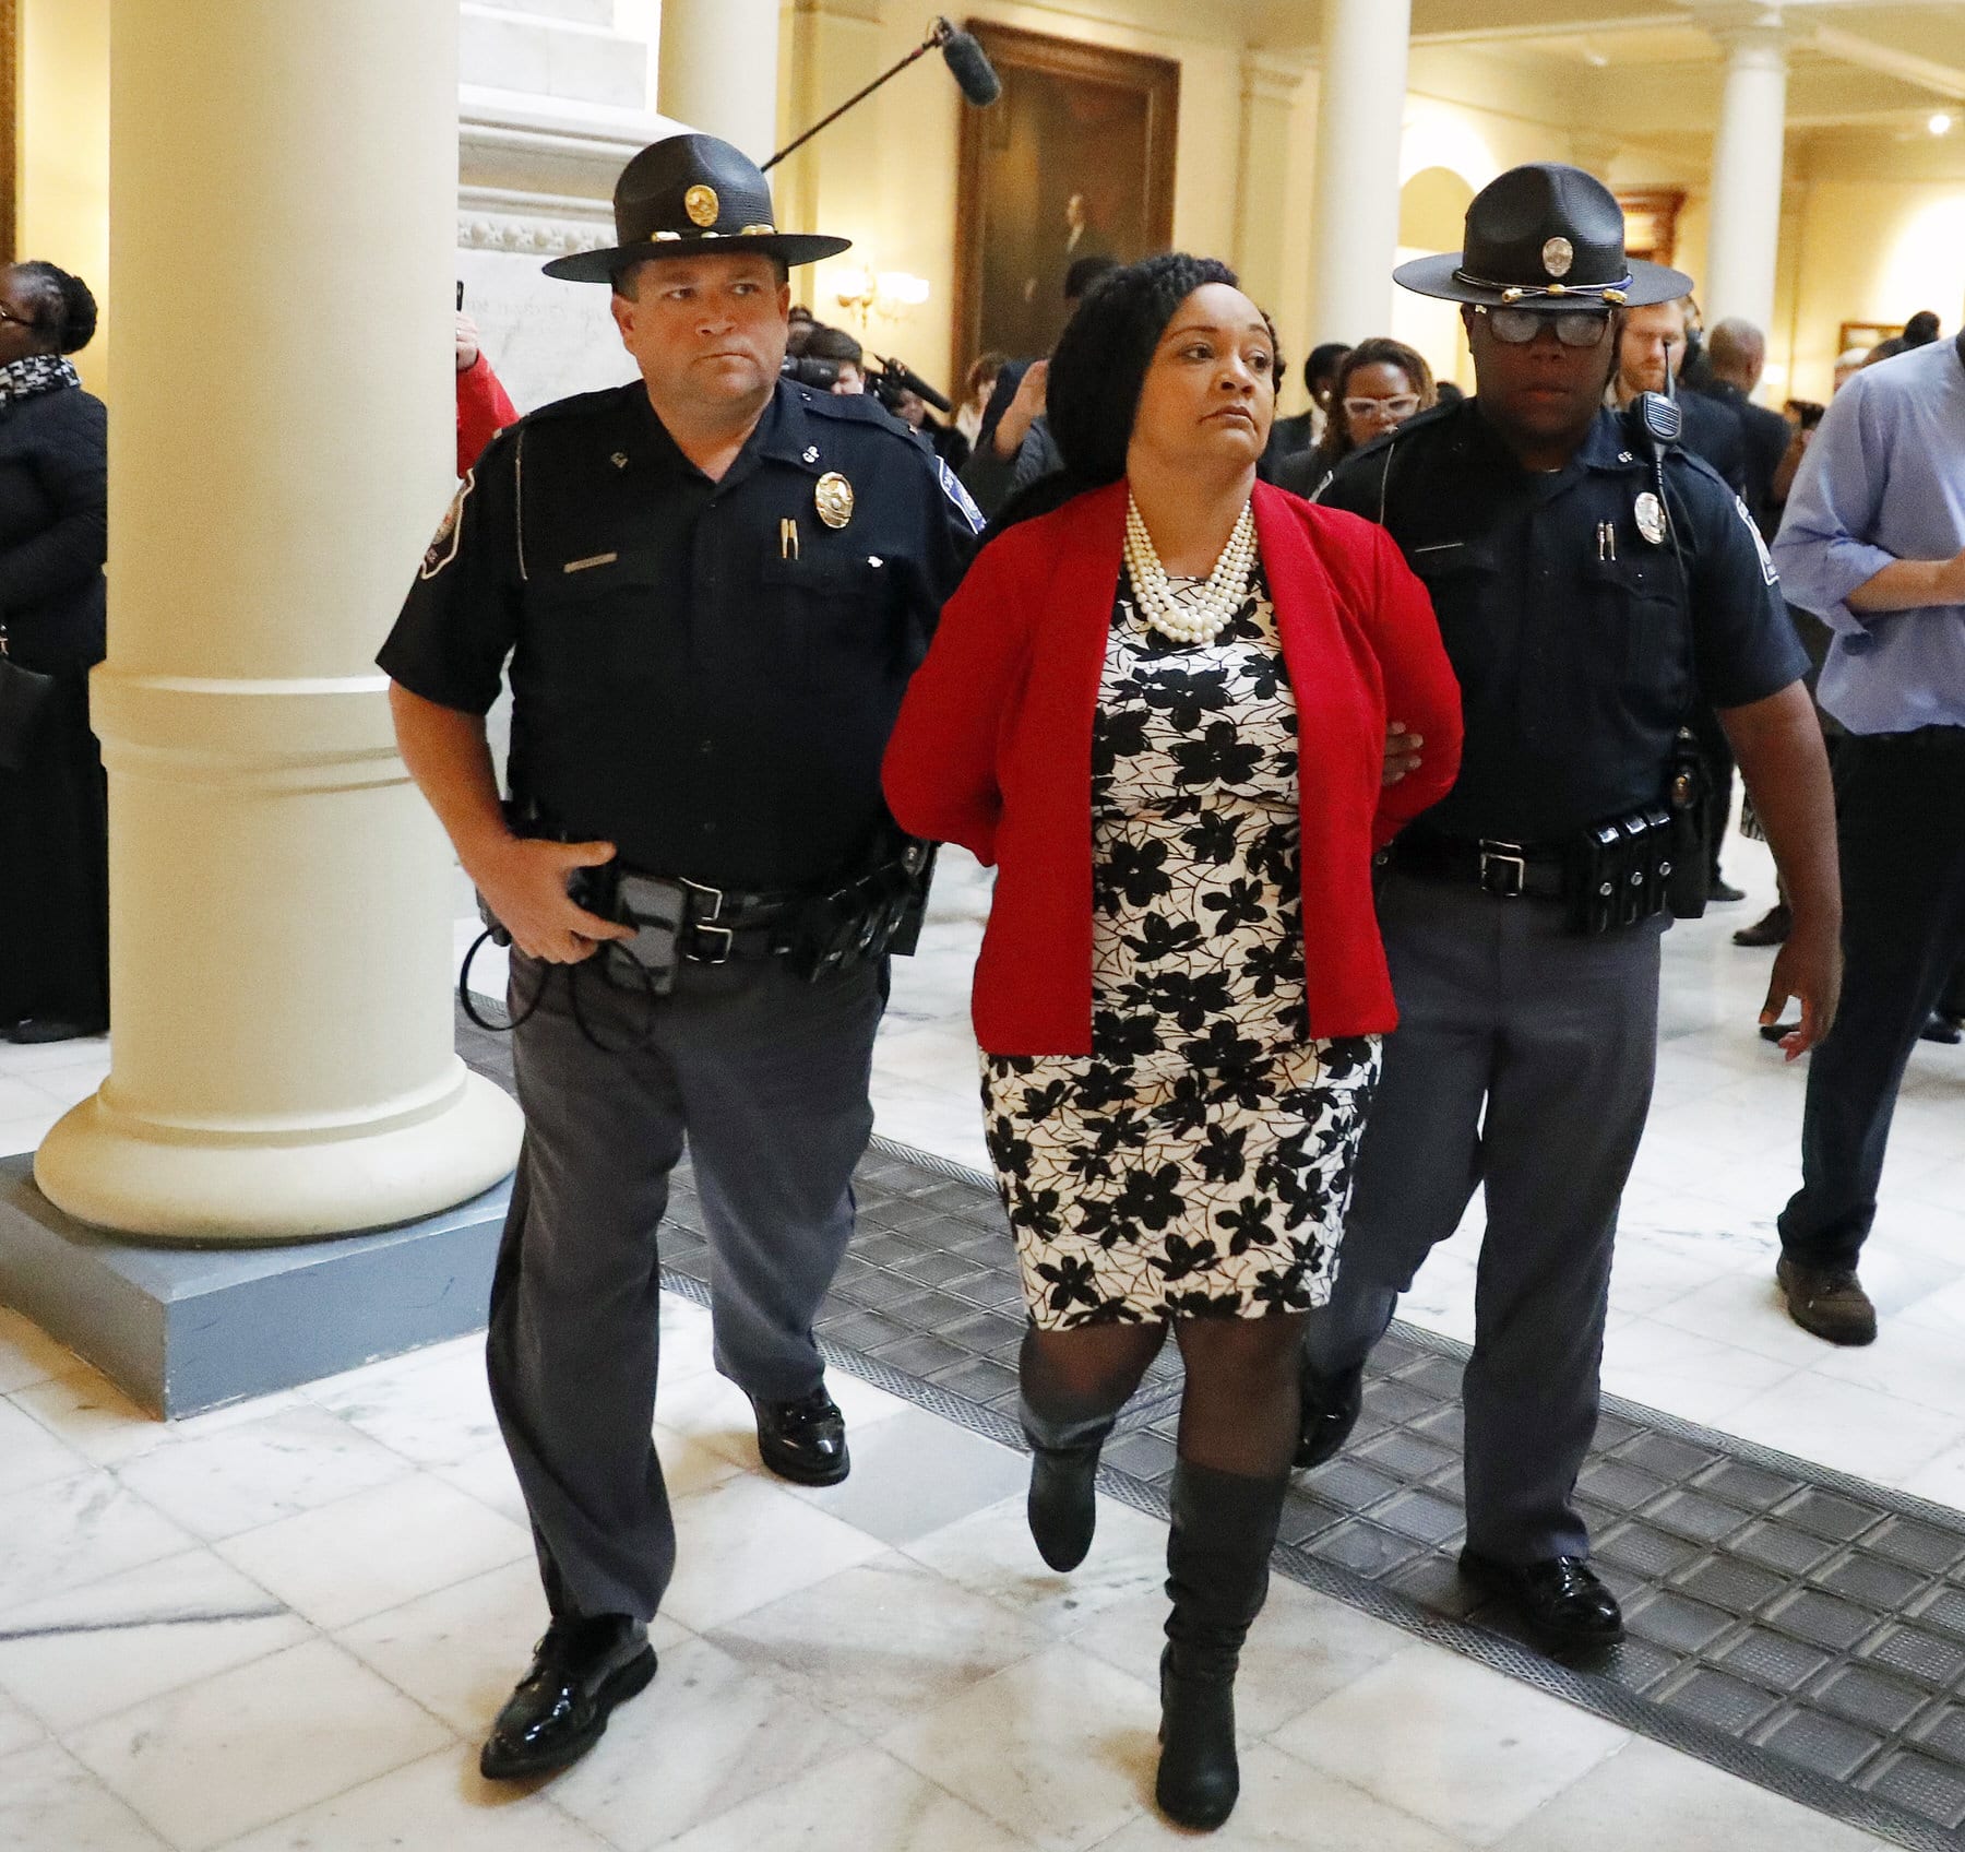
{"label": "officer in sunglasses and campaign hat, holding the woman's arm", "polygon": [[1342,1447],[1399,1294],[1484,1189],[1462,1573],[1543,1646],[1603,1648],[1623,1622],[1574,1486],[1651,1101],[1658,942],[1706,873],[1680,733],[1710,698],[1794,895],[1768,995],[1770,1013],[1802,1001],[1790,1056],[1839,987],[1827,765],[1745,507],[1668,440],[1668,401],[1603,407],[1621,313],[1690,287],[1625,260],[1611,193],[1517,167],[1468,208],[1464,252],[1397,281],[1462,305],[1478,393],[1360,450],[1322,499],[1387,527],[1425,578],[1466,747],[1452,792],[1387,851],[1401,1024],[1336,1292],[1311,1315],[1299,1465]]}

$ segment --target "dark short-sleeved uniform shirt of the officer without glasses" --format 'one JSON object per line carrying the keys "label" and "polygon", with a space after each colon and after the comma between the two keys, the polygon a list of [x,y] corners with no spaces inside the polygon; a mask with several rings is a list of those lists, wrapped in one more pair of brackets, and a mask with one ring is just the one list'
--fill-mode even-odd
{"label": "dark short-sleeved uniform shirt of the officer without glasses", "polygon": [[981,515],[872,399],[780,381],[721,482],[641,381],[499,434],[379,663],[483,714],[513,794],[627,867],[782,889],[857,865],[880,757]]}

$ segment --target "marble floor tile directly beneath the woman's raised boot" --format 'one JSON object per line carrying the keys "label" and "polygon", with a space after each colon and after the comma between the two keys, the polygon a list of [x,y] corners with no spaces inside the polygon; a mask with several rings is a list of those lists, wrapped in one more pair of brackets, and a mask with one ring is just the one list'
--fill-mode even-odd
{"label": "marble floor tile directly beneath the woman's raised boot", "polygon": [[1038,1555],[1022,1498],[1004,1498],[906,1551],[1049,1634],[1069,1634],[1118,1602],[1159,1591],[1167,1579],[1167,1526],[1104,1496],[1091,1555],[1071,1575],[1057,1575]]}

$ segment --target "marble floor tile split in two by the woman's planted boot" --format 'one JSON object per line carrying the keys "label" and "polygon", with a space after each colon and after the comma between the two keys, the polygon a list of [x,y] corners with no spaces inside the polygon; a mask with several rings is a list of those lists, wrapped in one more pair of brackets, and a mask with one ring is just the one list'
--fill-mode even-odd
{"label": "marble floor tile split in two by the woman's planted boot", "polygon": [[[1106,1608],[1069,1638],[1142,1685],[1157,1685],[1165,1620],[1167,1596],[1155,1591]],[[1271,1577],[1269,1600],[1250,1628],[1236,1673],[1234,1710],[1242,1740],[1269,1736],[1407,1646],[1411,1638],[1395,1626],[1301,1583]]]}

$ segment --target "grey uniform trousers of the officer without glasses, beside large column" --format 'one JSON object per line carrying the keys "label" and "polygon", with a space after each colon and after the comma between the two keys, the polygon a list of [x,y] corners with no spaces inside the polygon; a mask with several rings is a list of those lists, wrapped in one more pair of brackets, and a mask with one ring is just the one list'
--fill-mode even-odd
{"label": "grey uniform trousers of the officer without glasses, beside large column", "polygon": [[812,1319],[853,1235],[886,971],[812,985],[782,959],[684,965],[652,999],[597,961],[546,975],[515,955],[515,1011],[534,995],[513,1038],[525,1148],[491,1284],[491,1402],[552,1610],[648,1620],[676,1565],[652,1439],[668,1174],[688,1142],[717,1368],[760,1400],[819,1388]]}

